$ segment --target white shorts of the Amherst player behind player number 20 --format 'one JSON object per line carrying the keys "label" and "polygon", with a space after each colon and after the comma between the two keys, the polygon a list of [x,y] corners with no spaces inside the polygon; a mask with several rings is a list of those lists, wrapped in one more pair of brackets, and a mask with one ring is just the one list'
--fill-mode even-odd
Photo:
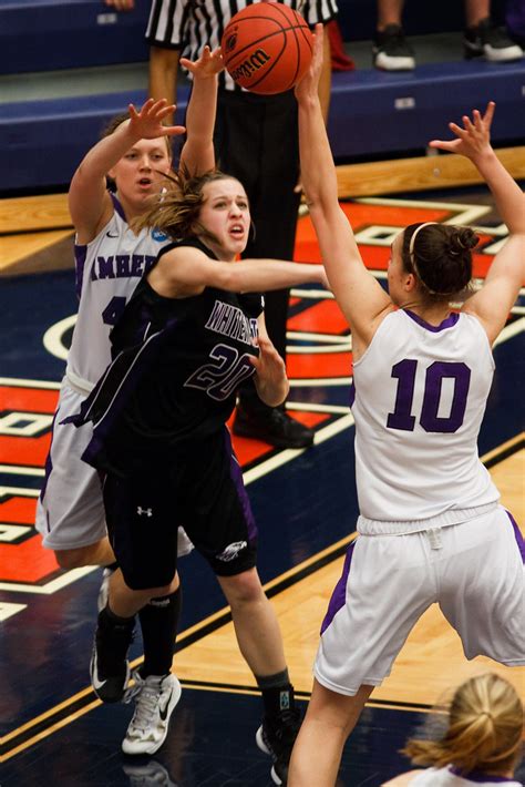
{"label": "white shorts of the Amherst player behind player number 20", "polygon": [[[35,520],[43,545],[52,550],[89,546],[107,535],[99,473],[81,459],[92,437],[91,423],[80,428],[61,423],[79,412],[84,398],[63,380]],[[178,555],[192,550],[192,542],[179,528]]]}

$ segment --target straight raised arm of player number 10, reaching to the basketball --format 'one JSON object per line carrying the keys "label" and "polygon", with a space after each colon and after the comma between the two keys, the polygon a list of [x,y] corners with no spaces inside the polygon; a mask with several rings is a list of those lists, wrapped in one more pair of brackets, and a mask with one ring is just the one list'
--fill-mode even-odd
{"label": "straight raised arm of player number 10, reaching to the basketball", "polygon": [[296,88],[302,185],[330,287],[363,349],[378,320],[391,308],[381,285],[367,270],[352,228],[338,202],[337,174],[322,119],[317,83],[322,62],[322,25],[316,27],[313,59]]}

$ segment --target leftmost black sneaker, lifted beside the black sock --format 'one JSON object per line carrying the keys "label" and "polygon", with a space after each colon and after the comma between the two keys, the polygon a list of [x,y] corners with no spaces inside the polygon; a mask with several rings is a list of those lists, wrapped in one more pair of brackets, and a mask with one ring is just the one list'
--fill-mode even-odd
{"label": "leftmost black sneaker, lifted beside the black sock", "polygon": [[93,691],[103,703],[117,703],[124,696],[130,681],[126,656],[134,626],[134,620],[121,625],[110,621],[104,611],[99,614],[90,675]]}

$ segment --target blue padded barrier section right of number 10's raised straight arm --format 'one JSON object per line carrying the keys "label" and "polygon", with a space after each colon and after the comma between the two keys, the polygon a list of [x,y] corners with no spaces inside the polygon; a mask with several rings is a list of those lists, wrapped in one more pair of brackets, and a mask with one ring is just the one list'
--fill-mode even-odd
{"label": "blue padded barrier section right of number 10's raised straight arm", "polygon": [[334,74],[329,135],[336,160],[423,151],[447,123],[496,102],[495,143],[525,140],[525,60],[431,63],[413,72]]}

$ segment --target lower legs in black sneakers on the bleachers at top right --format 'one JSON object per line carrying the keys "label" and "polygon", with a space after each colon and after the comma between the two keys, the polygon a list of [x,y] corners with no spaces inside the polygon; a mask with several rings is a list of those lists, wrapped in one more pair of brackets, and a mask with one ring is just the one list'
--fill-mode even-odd
{"label": "lower legs in black sneakers on the bleachers at top right", "polygon": [[[524,0],[516,0],[523,7]],[[491,63],[506,63],[523,57],[505,28],[491,19],[491,0],[464,0],[466,28],[463,45],[465,58],[482,58]],[[378,0],[378,24],[373,42],[373,64],[384,71],[411,71],[414,53],[401,25],[404,0]]]}

